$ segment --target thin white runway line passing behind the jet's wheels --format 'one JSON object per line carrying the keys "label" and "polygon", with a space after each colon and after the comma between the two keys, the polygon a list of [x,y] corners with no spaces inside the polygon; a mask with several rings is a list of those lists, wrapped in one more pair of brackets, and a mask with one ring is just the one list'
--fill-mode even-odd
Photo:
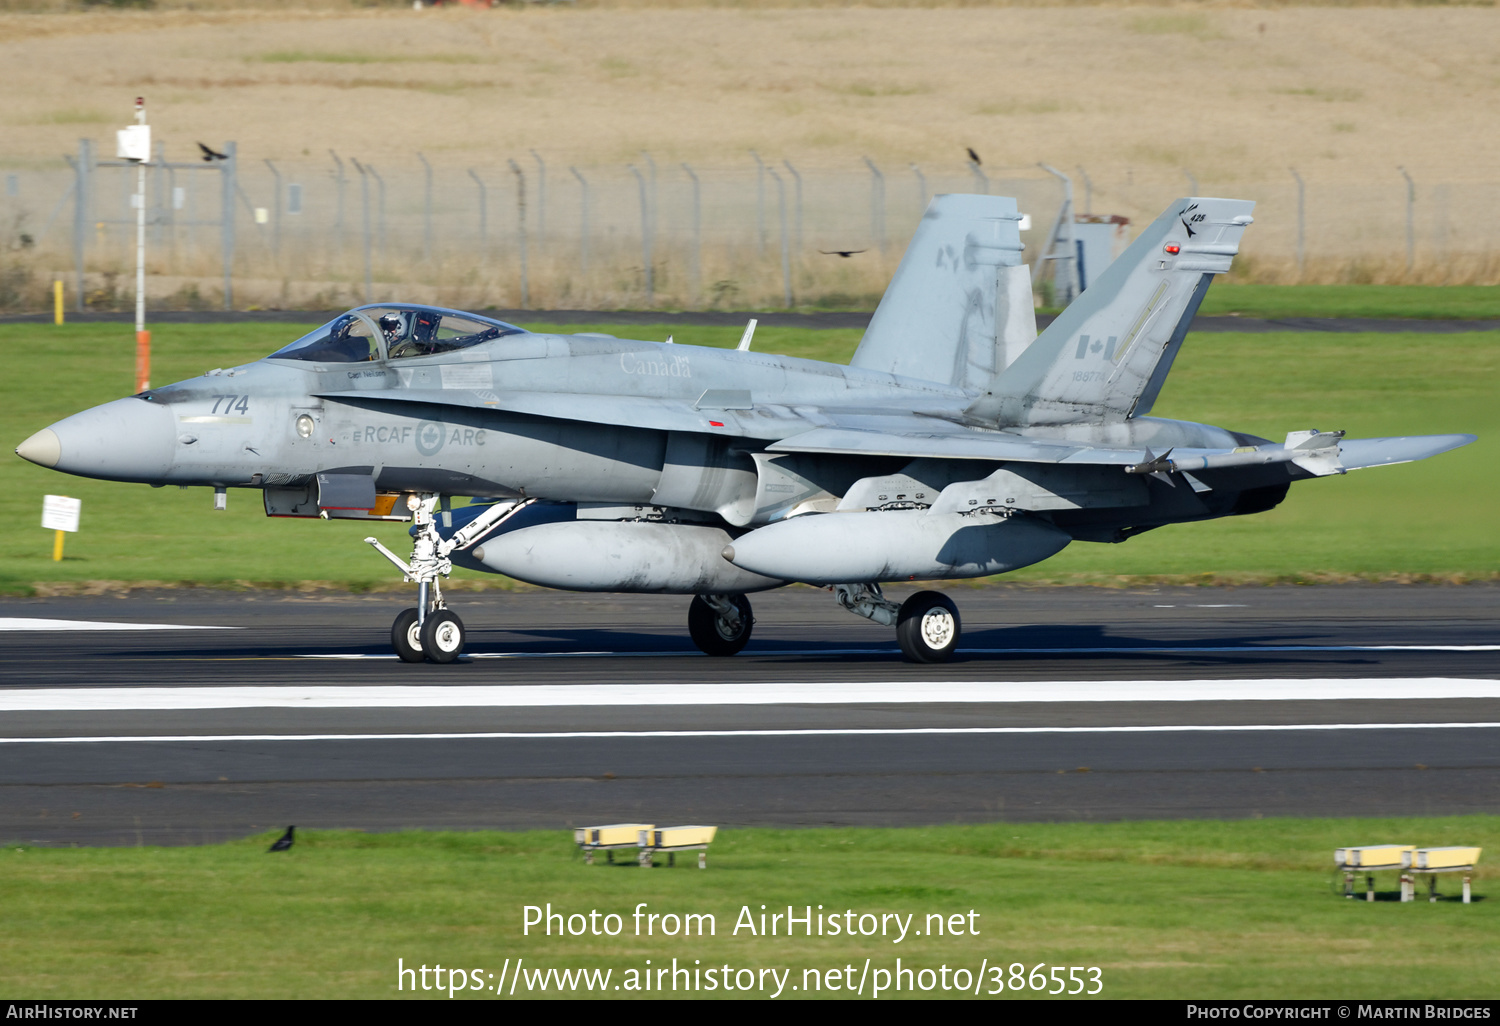
{"label": "thin white runway line passing behind the jet's wheels", "polygon": [[[742,657],[753,656],[896,656],[897,648],[750,648]],[[1194,654],[1258,654],[1258,652],[1500,652],[1500,645],[1112,645],[1112,646],[1062,646],[1062,648],[960,648],[960,656],[1134,656],[1138,652],[1194,656]],[[465,652],[462,658],[674,658],[700,657],[696,648],[674,648],[670,651],[582,651],[582,652]],[[298,652],[294,658],[336,660],[394,660],[396,652]]]}

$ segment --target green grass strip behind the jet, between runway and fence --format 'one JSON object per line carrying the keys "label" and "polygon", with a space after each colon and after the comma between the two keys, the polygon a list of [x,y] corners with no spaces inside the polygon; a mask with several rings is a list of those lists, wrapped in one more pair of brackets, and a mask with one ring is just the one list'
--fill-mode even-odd
{"label": "green grass strip behind the jet, between runway and fence", "polygon": [[[542,327],[542,326],[534,326]],[[732,345],[740,328],[570,326],[622,336]],[[296,338],[296,326],[166,324],[153,332],[158,382],[264,356]],[[762,328],[758,348],[848,360],[858,332]],[[260,494],[234,489],[228,513],[210,489],[152,489],[64,477],[10,448],[33,430],[130,388],[134,339],[126,326],[6,326],[0,344],[27,354],[0,386],[0,513],[16,530],[0,540],[0,590],[26,592],[92,580],[194,580],[368,588],[394,585],[384,561],[351,522],[268,520]],[[1070,546],[1014,580],[1113,580],[1176,574],[1180,580],[1316,579],[1318,574],[1482,578],[1500,572],[1500,477],[1492,454],[1500,334],[1197,334],[1190,339],[1156,412],[1280,438],[1304,428],[1346,428],[1352,436],[1473,432],[1455,453],[1392,468],[1298,484],[1270,513],[1178,525],[1122,546]],[[82,531],[66,558],[51,558],[38,526],[44,494],[84,502]],[[374,528],[410,546],[404,525]],[[454,579],[502,584],[456,572]]]}

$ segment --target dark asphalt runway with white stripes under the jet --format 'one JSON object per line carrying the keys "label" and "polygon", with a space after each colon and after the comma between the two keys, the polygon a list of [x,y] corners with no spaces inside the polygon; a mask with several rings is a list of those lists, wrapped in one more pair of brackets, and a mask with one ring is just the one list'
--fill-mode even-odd
{"label": "dark asphalt runway with white stripes under the jet", "polygon": [[684,597],[458,594],[450,666],[396,594],[3,600],[0,840],[1500,806],[1500,586],[948,592],[942,666],[810,588],[723,660]]}

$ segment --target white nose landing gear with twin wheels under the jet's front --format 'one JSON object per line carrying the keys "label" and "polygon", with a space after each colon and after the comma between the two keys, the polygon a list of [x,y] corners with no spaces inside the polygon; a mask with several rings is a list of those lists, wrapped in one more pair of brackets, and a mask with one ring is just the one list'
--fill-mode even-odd
{"label": "white nose landing gear with twin wheels under the jet's front", "polygon": [[376,552],[400,570],[400,579],[416,582],[417,606],[402,609],[390,626],[390,646],[404,663],[452,663],[464,652],[464,621],[442,602],[440,578],[453,573],[454,552],[470,548],[490,528],[512,516],[530,500],[520,502],[496,502],[444,538],[438,532],[435,510],[438,495],[410,495],[406,508],[416,525],[411,562],[406,562],[375,538],[364,538]]}

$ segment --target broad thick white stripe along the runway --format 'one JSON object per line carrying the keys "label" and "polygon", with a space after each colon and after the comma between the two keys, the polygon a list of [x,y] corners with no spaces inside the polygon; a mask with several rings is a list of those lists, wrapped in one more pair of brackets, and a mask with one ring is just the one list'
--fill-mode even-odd
{"label": "broad thick white stripe along the runway", "polygon": [[831,681],[734,684],[351,684],[0,690],[0,712],[110,710],[572,708],[1006,702],[1494,699],[1500,680]]}

